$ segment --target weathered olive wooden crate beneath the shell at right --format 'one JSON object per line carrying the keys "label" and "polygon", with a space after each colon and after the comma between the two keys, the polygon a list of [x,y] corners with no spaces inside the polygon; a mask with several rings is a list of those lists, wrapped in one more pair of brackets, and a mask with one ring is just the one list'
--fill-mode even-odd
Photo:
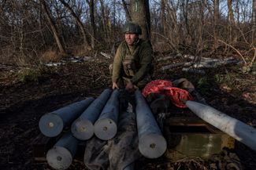
{"label": "weathered olive wooden crate beneath the shell at right", "polygon": [[209,158],[223,147],[234,148],[235,139],[199,118],[169,118],[164,122],[168,141],[165,157],[170,161],[184,158]]}

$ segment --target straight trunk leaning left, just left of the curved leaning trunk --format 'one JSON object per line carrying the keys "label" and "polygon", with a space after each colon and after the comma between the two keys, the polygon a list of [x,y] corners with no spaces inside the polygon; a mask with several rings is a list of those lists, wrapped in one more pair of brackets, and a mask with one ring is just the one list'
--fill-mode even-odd
{"label": "straight trunk leaning left, just left of the curved leaning trunk", "polygon": [[54,21],[51,19],[50,13],[47,10],[46,2],[44,0],[40,0],[40,2],[42,5],[43,12],[46,15],[46,20],[48,24],[50,24],[51,31],[53,31],[55,41],[57,42],[57,45],[58,45],[58,49],[60,50],[61,53],[65,53],[65,48],[62,45],[61,39],[58,36],[57,27],[55,26]]}

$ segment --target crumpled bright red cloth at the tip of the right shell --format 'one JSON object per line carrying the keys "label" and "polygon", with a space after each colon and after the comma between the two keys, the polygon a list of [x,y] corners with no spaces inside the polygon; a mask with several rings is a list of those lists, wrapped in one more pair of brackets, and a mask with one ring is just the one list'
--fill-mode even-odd
{"label": "crumpled bright red cloth at the tip of the right shell", "polygon": [[193,100],[193,97],[187,92],[187,90],[173,87],[172,81],[166,80],[154,80],[148,83],[143,89],[143,96],[147,97],[150,93],[161,93],[165,96],[169,96],[169,99],[176,107],[187,107],[183,103],[184,100]]}

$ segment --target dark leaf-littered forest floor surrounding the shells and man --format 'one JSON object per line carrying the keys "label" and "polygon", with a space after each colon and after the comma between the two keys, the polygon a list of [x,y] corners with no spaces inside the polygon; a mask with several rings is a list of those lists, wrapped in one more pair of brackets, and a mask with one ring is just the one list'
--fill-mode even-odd
{"label": "dark leaf-littered forest floor surrounding the shells and man", "polygon": [[[171,59],[174,60],[179,62],[175,57]],[[32,156],[32,143],[40,134],[39,118],[87,96],[97,97],[110,87],[111,61],[95,56],[83,63],[71,62],[58,67],[0,66],[0,169],[52,169],[46,161],[36,162]],[[255,75],[243,74],[237,65],[208,69],[204,75],[184,73],[181,67],[163,72],[163,63],[166,62],[156,63],[156,79],[187,78],[210,106],[256,127]],[[243,169],[256,169],[254,150],[236,142],[233,152]],[[198,158],[173,163],[164,157],[144,158],[139,162],[143,162],[140,169],[214,169],[210,161]],[[224,164],[218,166],[216,169],[232,169]],[[74,161],[69,169],[86,168]]]}

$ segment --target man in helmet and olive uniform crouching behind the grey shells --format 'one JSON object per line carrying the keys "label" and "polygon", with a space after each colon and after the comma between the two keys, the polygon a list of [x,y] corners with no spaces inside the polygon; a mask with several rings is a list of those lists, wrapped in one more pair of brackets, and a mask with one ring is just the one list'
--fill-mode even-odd
{"label": "man in helmet and olive uniform crouching behind the grey shells", "polygon": [[112,89],[125,87],[132,92],[143,89],[150,81],[152,48],[149,41],[139,38],[141,27],[135,23],[124,26],[124,38],[113,60]]}

